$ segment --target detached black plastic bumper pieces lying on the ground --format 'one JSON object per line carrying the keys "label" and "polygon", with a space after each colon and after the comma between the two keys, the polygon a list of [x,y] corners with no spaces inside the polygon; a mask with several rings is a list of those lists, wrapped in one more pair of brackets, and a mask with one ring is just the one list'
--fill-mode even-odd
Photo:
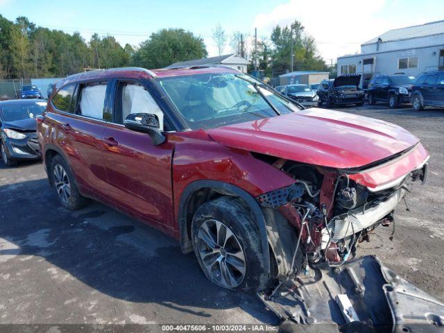
{"label": "detached black plastic bumper pieces lying on the ground", "polygon": [[[310,269],[307,275],[282,283],[273,296],[258,296],[282,321],[323,324],[322,332],[442,332],[444,323],[443,303],[373,256],[334,269]],[[354,313],[358,321],[341,311],[344,303],[339,301],[344,298],[351,305],[346,312]],[[321,332],[301,326],[298,330]]]}

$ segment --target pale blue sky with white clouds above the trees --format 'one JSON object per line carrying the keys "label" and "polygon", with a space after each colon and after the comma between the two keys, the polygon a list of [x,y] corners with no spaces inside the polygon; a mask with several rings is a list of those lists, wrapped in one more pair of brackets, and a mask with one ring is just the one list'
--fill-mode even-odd
{"label": "pale blue sky with white clouds above the trees", "polygon": [[[209,56],[218,51],[212,31],[221,24],[228,39],[234,31],[253,42],[269,37],[276,24],[295,19],[316,40],[319,55],[330,64],[390,29],[444,19],[443,0],[0,0],[0,14],[26,16],[37,26],[114,35],[121,44],[139,45],[161,28],[184,28],[203,37]],[[225,46],[224,53],[230,53]]]}

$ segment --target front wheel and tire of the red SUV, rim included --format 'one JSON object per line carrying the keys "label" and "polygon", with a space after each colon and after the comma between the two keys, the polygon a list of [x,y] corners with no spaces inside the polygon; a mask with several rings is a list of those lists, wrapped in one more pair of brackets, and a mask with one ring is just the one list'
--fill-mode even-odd
{"label": "front wheel and tire of the red SUV, rim included", "polygon": [[223,196],[201,205],[191,224],[191,241],[203,273],[219,287],[257,291],[268,284],[259,232],[239,200]]}

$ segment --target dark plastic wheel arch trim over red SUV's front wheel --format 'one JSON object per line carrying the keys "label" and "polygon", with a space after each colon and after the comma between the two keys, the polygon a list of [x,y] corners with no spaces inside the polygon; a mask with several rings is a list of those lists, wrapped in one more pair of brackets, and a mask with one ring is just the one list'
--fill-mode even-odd
{"label": "dark plastic wheel arch trim over red SUV's front wheel", "polygon": [[196,180],[191,182],[180,196],[178,210],[178,225],[180,233],[180,247],[183,253],[189,253],[193,250],[191,244],[191,221],[194,212],[203,203],[216,198],[217,196],[233,196],[239,198],[250,213],[253,215],[253,221],[259,230],[261,237],[262,255],[264,256],[265,271],[270,271],[270,253],[268,247],[268,237],[266,233],[266,223],[264,213],[259,203],[248,194],[247,191],[232,185],[228,182],[219,180]]}

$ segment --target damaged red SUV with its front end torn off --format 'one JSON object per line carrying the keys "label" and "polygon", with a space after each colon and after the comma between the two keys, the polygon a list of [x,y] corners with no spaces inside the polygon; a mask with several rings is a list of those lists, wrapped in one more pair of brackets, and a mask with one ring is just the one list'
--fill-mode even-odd
{"label": "damaged red SUV with its front end torn off", "polygon": [[226,67],[69,76],[37,123],[63,206],[94,198],[153,225],[229,289],[343,264],[429,158],[399,126],[305,109]]}

